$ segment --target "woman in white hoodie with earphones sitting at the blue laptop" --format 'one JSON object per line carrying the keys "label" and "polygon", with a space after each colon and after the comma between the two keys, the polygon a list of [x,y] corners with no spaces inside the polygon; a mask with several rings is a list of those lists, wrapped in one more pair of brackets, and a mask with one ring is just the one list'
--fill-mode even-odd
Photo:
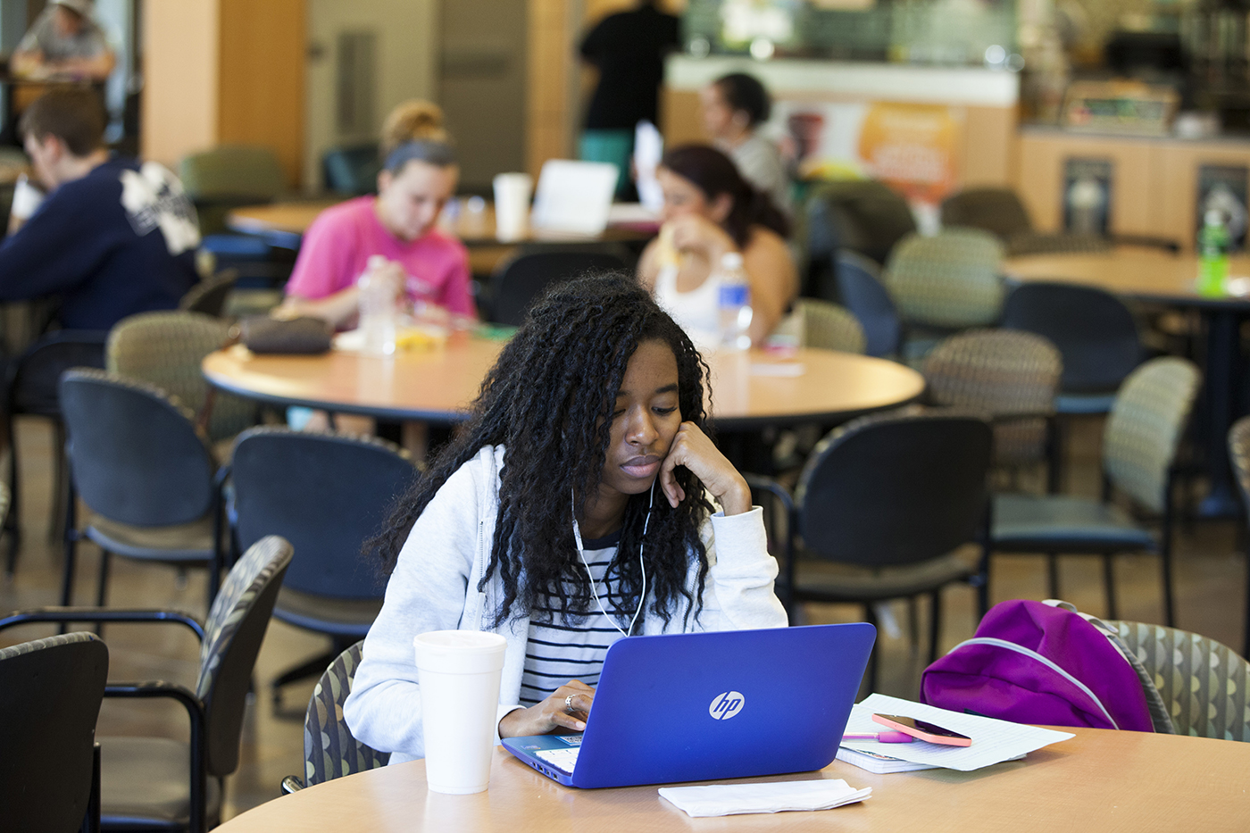
{"label": "woman in white hoodie with earphones sitting at the blue laptop", "polygon": [[[782,628],[762,510],[704,433],[704,364],[628,275],[550,289],[365,544],[390,575],[342,717],[425,754],[412,638],[505,637],[498,734],[580,732],[610,644]],[[719,504],[719,505],[718,505]]]}

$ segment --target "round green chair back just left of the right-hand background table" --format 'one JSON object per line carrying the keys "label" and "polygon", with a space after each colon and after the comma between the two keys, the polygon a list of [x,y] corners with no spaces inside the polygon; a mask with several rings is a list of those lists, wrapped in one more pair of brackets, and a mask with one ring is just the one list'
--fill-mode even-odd
{"label": "round green chair back just left of the right-hand background table", "polygon": [[912,326],[959,330],[994,324],[1002,311],[1002,245],[980,229],[908,235],[885,268],[885,288]]}

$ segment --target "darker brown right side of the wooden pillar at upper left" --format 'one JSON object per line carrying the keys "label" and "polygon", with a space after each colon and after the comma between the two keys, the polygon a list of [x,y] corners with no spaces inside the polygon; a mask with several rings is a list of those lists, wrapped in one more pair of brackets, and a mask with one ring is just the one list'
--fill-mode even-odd
{"label": "darker brown right side of the wooden pillar at upper left", "polygon": [[305,0],[219,1],[218,140],[272,148],[294,188],[304,159]]}

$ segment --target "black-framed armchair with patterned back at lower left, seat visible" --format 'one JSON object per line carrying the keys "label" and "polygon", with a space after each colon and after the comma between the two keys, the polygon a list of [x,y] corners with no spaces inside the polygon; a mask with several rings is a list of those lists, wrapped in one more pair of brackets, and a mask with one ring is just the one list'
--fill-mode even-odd
{"label": "black-framed armchair with patterned back at lower left, seat visible", "polygon": [[256,542],[230,568],[202,625],[176,610],[116,608],[41,608],[0,619],[0,628],[34,622],[172,623],[200,639],[192,688],[168,680],[110,682],[105,688],[108,698],[166,699],[181,705],[190,740],[99,738],[104,829],[204,833],[220,822],[225,777],[239,768],[256,654],[291,552],[278,535]]}

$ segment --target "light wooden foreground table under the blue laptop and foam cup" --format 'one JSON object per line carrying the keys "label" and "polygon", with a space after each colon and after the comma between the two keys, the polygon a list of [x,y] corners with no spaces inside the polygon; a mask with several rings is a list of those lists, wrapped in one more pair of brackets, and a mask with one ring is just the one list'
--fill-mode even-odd
{"label": "light wooden foreground table under the blue laptop and foam cup", "polygon": [[871,787],[859,804],[816,813],[689,818],[655,787],[561,787],[496,749],[490,789],[440,795],[425,762],[330,780],[230,819],[221,833],[636,833],[639,830],[924,830],[925,833],[1140,833],[1250,830],[1250,744],[1188,735],[1068,729],[1071,740],[980,772],[874,775],[835,760],[818,773]]}

